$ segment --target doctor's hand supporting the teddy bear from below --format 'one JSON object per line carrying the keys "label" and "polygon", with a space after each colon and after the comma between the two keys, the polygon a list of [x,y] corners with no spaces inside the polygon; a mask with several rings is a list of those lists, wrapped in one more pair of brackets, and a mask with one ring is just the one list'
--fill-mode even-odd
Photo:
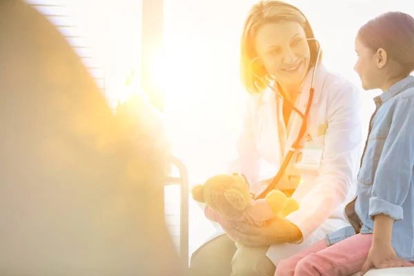
{"label": "doctor's hand supporting the teddy bear from below", "polygon": [[251,247],[284,244],[302,239],[299,228],[281,217],[274,217],[262,227],[237,222],[234,230],[237,242]]}

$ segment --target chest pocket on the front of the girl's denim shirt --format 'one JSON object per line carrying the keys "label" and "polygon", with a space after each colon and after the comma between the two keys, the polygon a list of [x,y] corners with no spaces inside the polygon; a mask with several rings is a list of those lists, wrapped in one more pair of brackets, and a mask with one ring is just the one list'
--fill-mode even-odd
{"label": "chest pocket on the front of the girl's denim shirt", "polygon": [[380,161],[382,149],[384,148],[385,139],[386,137],[382,135],[368,139],[362,166],[359,169],[357,176],[357,180],[360,183],[365,185],[373,184],[378,162]]}

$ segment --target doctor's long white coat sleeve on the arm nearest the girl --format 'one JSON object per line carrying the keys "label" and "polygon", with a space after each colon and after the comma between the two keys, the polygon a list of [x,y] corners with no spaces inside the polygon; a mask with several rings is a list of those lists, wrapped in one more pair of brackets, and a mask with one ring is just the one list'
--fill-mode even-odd
{"label": "doctor's long white coat sleeve on the arm nearest the girl", "polygon": [[328,128],[319,175],[299,201],[299,210],[286,217],[302,231],[302,240],[355,190],[362,140],[359,90],[347,81],[338,82],[327,88]]}

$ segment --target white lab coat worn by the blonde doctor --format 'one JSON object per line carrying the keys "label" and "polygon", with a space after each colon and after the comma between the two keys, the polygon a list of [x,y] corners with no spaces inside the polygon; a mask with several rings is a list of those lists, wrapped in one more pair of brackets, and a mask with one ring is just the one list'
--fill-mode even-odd
{"label": "white lab coat worn by the blonde doctor", "polygon": [[[310,70],[295,103],[302,113],[308,104],[312,74],[313,70]],[[300,208],[286,217],[298,226],[304,236],[302,245],[287,245],[292,254],[299,250],[295,247],[313,244],[323,239],[326,233],[347,225],[344,206],[355,193],[361,154],[359,90],[343,77],[328,72],[322,65],[317,67],[313,87],[315,94],[305,136],[311,135],[313,143],[322,146],[323,155],[319,170],[294,170],[291,161],[284,177],[285,180],[289,174],[302,177],[302,183],[293,193]],[[238,156],[230,164],[230,171],[243,173],[250,183],[259,180],[261,158],[279,168],[297,138],[302,119],[293,111],[287,132],[282,103],[283,100],[270,89],[249,99],[242,134],[237,141]],[[302,139],[304,143],[305,138]],[[259,186],[253,185],[252,189],[263,188]],[[284,248],[284,256],[281,256],[281,249],[281,246],[270,246],[268,250],[267,255],[275,264],[281,257],[290,255],[288,248]]]}

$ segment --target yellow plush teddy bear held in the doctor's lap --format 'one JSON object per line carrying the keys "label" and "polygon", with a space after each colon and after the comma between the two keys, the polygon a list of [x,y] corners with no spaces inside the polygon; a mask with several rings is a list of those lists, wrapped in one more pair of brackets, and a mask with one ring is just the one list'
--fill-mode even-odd
{"label": "yellow plush teddy bear held in the doctor's lap", "polygon": [[205,214],[218,222],[233,240],[236,221],[264,226],[274,216],[286,217],[299,209],[295,199],[272,190],[265,199],[253,199],[242,175],[215,175],[192,189],[193,199],[206,204]]}

